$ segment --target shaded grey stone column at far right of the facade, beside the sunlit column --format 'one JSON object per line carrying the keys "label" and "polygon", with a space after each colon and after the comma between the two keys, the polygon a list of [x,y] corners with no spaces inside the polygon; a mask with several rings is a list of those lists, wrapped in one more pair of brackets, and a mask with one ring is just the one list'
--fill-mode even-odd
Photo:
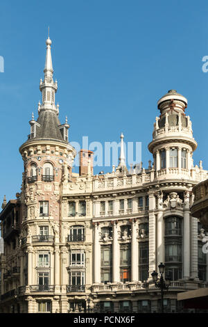
{"label": "shaded grey stone column at far right of the facade, beside the sunlit column", "polygon": [[198,218],[191,216],[191,278],[198,280]]}

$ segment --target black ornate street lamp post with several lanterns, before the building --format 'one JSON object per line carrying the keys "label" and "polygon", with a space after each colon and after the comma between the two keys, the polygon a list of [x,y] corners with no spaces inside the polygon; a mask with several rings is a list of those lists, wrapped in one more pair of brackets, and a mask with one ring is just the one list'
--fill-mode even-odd
{"label": "black ornate street lamp post with several lanterns, before the building", "polygon": [[164,264],[160,262],[158,268],[159,268],[159,273],[160,273],[160,278],[157,278],[158,273],[154,270],[153,273],[151,273],[153,277],[153,282],[155,282],[155,287],[158,287],[161,291],[161,312],[164,313],[164,305],[163,305],[163,296],[164,296],[164,291],[168,290],[170,284],[171,284],[171,278],[168,276],[164,280],[163,274],[164,274]]}

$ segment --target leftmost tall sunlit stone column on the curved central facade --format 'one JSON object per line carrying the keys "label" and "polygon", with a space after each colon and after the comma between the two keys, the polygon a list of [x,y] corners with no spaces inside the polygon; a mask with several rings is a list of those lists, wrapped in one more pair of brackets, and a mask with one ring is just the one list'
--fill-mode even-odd
{"label": "leftmost tall sunlit stone column on the curved central facade", "polygon": [[100,228],[98,223],[94,226],[94,283],[101,282],[101,245],[100,239]]}

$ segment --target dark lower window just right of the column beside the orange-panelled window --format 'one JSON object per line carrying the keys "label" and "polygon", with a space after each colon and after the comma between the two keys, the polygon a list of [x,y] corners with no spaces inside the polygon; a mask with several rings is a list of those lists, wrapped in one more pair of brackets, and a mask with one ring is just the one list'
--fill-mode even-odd
{"label": "dark lower window just right of the column beside the orange-panelled window", "polygon": [[149,248],[148,242],[139,242],[139,280],[148,280]]}

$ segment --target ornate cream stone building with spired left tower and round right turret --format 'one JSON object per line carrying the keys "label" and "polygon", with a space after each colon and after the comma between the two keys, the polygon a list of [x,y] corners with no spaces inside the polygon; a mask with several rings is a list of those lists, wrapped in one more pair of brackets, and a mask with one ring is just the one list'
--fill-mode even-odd
{"label": "ornate cream stone building with spired left tower and round right turret", "polygon": [[159,312],[151,273],[160,262],[171,277],[165,311],[180,311],[177,293],[208,278],[207,258],[198,255],[198,218],[190,213],[192,188],[207,170],[201,162],[193,166],[197,143],[187,99],[169,90],[157,102],[148,168],[138,163],[128,170],[121,134],[112,173],[94,175],[93,153],[83,149],[75,174],[76,150],[67,119],[58,119],[57,88],[48,38],[42,104],[19,148],[21,193],[4,200],[0,214],[1,312]]}

